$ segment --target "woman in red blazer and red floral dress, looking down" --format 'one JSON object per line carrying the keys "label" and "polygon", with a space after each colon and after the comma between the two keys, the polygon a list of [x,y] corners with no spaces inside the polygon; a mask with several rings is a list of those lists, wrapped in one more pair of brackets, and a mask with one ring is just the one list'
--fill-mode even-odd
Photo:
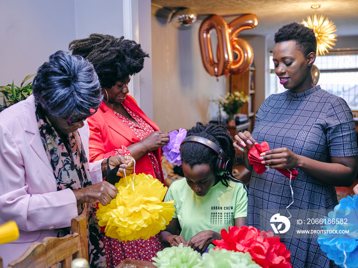
{"label": "woman in red blazer and red floral dress, looking down", "polygon": [[[70,50],[92,62],[102,87],[103,102],[87,119],[91,131],[89,161],[131,155],[136,159],[137,174],[152,175],[164,184],[161,148],[168,143],[169,135],[160,131],[127,94],[130,76],[143,68],[148,54],[135,41],[101,34],[72,41]],[[127,242],[104,233],[102,238],[107,267],[115,267],[126,258],[152,261],[163,249],[160,234]]]}

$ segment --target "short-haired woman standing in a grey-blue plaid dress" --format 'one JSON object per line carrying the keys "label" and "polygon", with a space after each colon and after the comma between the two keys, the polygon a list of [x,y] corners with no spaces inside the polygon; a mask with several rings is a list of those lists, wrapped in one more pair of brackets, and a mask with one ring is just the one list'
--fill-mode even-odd
{"label": "short-haired woman standing in a grey-blue plaid dress", "polygon": [[[318,219],[327,215],[338,204],[334,186],[352,185],[358,166],[352,112],[342,98],[312,81],[316,48],[315,33],[300,23],[285,25],[275,34],[275,72],[288,90],[269,96],[256,115],[252,134],[239,132],[234,143],[250,170],[248,151],[255,143],[269,143],[270,151],[260,157],[267,169],[261,175],[252,171],[247,225],[275,231],[272,216],[292,214],[290,236],[277,235],[291,253],[290,263],[299,268],[335,266],[320,249],[317,234],[297,234],[296,229],[304,228],[297,220],[307,224],[307,211]],[[277,172],[280,168],[295,168],[298,175],[290,181]]]}

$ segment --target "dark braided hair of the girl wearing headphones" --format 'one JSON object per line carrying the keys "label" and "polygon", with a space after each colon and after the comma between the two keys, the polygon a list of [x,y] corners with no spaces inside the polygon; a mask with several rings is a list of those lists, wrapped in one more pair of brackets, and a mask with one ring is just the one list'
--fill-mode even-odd
{"label": "dark braided hair of the girl wearing headphones", "polygon": [[[231,160],[231,166],[228,167],[230,176],[228,174],[224,174],[218,177],[223,185],[229,186],[228,181],[234,180],[231,177],[233,176],[232,171],[236,164],[236,152],[233,145],[233,138],[229,131],[221,125],[211,123],[203,125],[198,122],[195,127],[188,131],[187,137],[188,136],[207,138],[217,144],[226,153],[228,158]],[[211,148],[197,142],[185,142],[182,144],[180,151],[182,162],[189,164],[191,168],[194,165],[209,164],[211,170],[214,172],[217,153]]]}

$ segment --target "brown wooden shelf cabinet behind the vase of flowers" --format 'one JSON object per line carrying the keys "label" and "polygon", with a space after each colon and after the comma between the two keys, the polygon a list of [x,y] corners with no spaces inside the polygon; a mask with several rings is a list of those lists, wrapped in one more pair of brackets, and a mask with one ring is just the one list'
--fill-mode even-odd
{"label": "brown wooden shelf cabinet behind the vase of flowers", "polygon": [[245,126],[236,126],[240,128],[247,128],[250,132],[252,132],[255,124],[255,67],[251,66],[248,71],[245,71],[240,75],[229,76],[230,80],[230,91],[243,91],[244,95],[248,95],[250,97],[250,101],[245,103],[244,106],[241,107],[240,113],[248,115],[248,123]]}

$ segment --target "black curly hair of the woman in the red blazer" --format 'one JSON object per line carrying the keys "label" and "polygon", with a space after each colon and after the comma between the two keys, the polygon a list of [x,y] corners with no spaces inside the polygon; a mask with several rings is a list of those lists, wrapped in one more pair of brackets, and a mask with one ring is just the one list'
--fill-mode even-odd
{"label": "black curly hair of the woman in the red blazer", "polygon": [[111,88],[116,82],[137,74],[143,69],[144,58],[149,57],[140,44],[111,35],[91,34],[88,38],[69,44],[73,55],[90,61],[97,72],[102,87]]}

